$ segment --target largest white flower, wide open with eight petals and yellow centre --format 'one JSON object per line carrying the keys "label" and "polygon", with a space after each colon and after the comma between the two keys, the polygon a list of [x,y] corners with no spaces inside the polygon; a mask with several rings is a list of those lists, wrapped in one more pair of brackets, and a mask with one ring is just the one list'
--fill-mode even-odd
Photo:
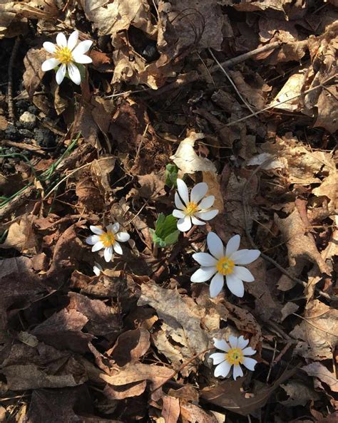
{"label": "largest white flower, wide open with eight petals and yellow centre", "polygon": [[201,267],[193,273],[190,281],[205,282],[213,276],[210,283],[210,296],[215,297],[222,291],[225,277],[227,288],[237,297],[244,296],[244,285],[242,281],[253,282],[255,278],[247,268],[237,265],[252,263],[252,261],[255,261],[260,256],[260,251],[239,250],[239,235],[232,236],[226,248],[224,248],[220,237],[214,232],[209,232],[207,244],[211,254],[193,254],[193,258]]}

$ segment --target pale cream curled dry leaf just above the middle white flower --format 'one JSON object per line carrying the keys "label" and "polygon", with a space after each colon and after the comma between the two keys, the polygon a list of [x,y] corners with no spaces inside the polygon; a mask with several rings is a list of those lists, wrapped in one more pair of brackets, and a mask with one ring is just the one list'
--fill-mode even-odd
{"label": "pale cream curled dry leaf just above the middle white flower", "polygon": [[203,138],[201,133],[190,132],[190,135],[180,142],[175,155],[170,157],[183,173],[216,172],[215,164],[206,157],[198,156],[194,150],[195,141]]}

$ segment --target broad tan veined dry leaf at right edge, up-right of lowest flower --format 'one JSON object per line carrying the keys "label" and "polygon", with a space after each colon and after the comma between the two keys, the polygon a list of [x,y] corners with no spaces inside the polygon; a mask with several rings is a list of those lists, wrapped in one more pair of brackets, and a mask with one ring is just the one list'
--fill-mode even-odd
{"label": "broad tan veined dry leaf at right edge, up-right of lowest flower", "polygon": [[331,360],[337,345],[338,310],[314,300],[307,304],[303,319],[290,333],[299,339],[294,353],[312,360]]}

